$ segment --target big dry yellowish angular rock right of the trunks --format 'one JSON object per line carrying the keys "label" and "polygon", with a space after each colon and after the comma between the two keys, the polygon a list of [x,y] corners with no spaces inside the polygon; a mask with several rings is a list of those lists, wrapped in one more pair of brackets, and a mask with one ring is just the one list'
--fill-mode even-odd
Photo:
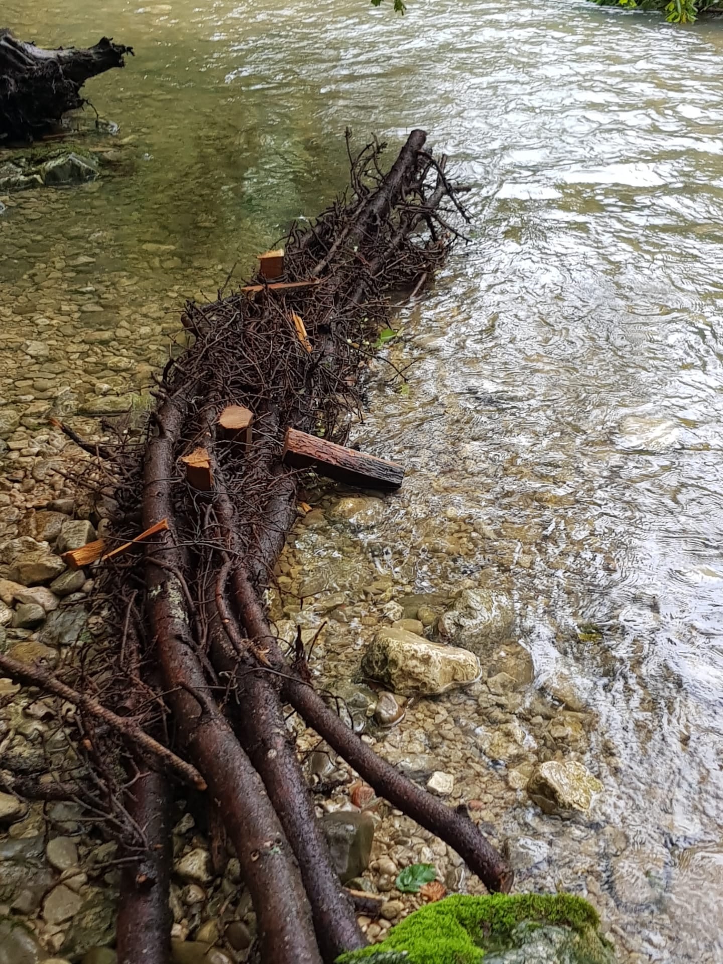
{"label": "big dry yellowish angular rock right of the trunks", "polygon": [[479,660],[454,646],[430,643],[406,629],[378,629],[362,658],[372,680],[405,696],[435,696],[479,678]]}

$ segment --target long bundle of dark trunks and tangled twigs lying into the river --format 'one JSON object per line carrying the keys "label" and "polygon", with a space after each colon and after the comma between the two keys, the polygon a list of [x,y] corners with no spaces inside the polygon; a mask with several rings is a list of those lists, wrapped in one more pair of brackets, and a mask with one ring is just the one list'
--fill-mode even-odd
{"label": "long bundle of dark trunks and tangled twigs lying into the river", "polygon": [[[283,281],[268,284],[259,273],[226,299],[188,305],[183,324],[194,343],[167,365],[146,439],[108,451],[118,479],[112,538],[127,547],[96,564],[97,591],[111,601],[120,640],[107,657],[117,681],[108,719],[127,707],[125,691],[140,686],[134,725],[165,733],[180,763],[175,772],[198,772],[207,785],[209,810],[223,821],[254,902],[264,964],[333,964],[363,944],[284,702],[379,795],[457,849],[490,890],[512,883],[469,817],[403,778],[326,706],[304,676],[303,653],[282,652],[262,603],[295,515],[299,469],[286,464],[294,456],[287,445],[284,459],[284,439],[303,442],[297,466],[337,463],[333,470],[340,464],[357,481],[389,488],[402,481],[393,463],[340,446],[361,408],[364,345],[388,326],[385,291],[418,289],[454,233],[442,209],[454,189],[443,158],[424,152],[425,139],[413,131],[385,176],[380,147],[365,147],[352,165],[351,199],[290,232],[272,272]],[[139,505],[147,538],[136,549]],[[140,659],[124,645],[129,616]],[[108,671],[108,662],[97,669],[99,677]],[[126,749],[119,740],[118,755]],[[119,795],[128,799],[131,790],[120,787]],[[136,805],[143,800],[130,798],[131,817]],[[139,868],[124,887],[145,876]],[[153,872],[163,886],[164,871]],[[159,893],[124,894],[121,921],[145,897],[139,918],[160,926]],[[134,944],[123,926],[124,959],[144,959],[147,944],[140,937]],[[161,945],[155,941],[152,964],[163,962]]]}

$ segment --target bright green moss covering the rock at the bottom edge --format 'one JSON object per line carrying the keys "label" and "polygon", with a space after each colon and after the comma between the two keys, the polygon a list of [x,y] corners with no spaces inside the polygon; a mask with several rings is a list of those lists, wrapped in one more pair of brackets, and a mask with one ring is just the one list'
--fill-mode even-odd
{"label": "bright green moss covering the rock at the bottom edge", "polygon": [[[422,907],[397,924],[381,944],[342,954],[337,964],[396,958],[408,964],[477,964],[485,951],[504,946],[520,924],[568,927],[574,935],[599,942],[600,920],[593,907],[571,894],[494,894],[446,897]],[[404,954],[406,957],[399,957]],[[393,954],[394,956],[387,956]]]}

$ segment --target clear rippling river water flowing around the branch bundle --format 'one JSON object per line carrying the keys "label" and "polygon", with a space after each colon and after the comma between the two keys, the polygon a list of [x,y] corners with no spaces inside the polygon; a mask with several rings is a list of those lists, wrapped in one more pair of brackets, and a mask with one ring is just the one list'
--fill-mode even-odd
{"label": "clear rippling river water flowing around the branch bundle", "polygon": [[[408,393],[380,368],[358,436],[408,481],[358,551],[415,592],[503,582],[536,685],[592,713],[599,822],[556,821],[570,859],[524,886],[599,891],[631,959],[723,961],[723,27],[563,0],[5,9],[137,53],[89,86],[117,174],[0,218],[20,414],[147,385],[183,298],[343,186],[345,125],[451,155],[473,243],[400,315]],[[551,833],[522,800],[499,819]],[[614,856],[580,849],[603,827]]]}

